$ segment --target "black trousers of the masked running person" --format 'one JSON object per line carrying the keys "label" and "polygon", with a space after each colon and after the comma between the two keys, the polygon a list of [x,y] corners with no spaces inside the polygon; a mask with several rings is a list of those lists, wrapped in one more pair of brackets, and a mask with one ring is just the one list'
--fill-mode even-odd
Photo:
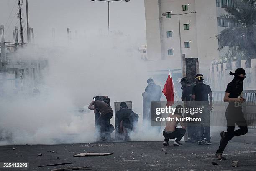
{"label": "black trousers of the masked running person", "polygon": [[[227,108],[227,111],[225,113],[227,118],[227,133],[225,133],[225,136],[223,140],[220,143],[219,149],[217,150],[217,153],[222,154],[225,147],[228,144],[228,141],[231,140],[234,136],[241,136],[248,132],[246,120],[243,116],[242,108]],[[235,124],[239,127],[235,131]]]}

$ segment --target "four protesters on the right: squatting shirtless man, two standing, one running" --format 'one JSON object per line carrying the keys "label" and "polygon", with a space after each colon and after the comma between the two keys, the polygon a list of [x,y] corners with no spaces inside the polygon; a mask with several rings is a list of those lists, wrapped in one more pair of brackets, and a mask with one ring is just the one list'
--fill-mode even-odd
{"label": "four protesters on the right: squatting shirtless man, two standing, one running", "polygon": [[[230,72],[233,75],[233,80],[227,85],[225,96],[223,101],[228,102],[228,107],[225,112],[227,120],[227,132],[222,131],[220,133],[220,146],[215,153],[215,157],[220,160],[226,158],[222,155],[225,147],[234,136],[241,136],[248,132],[246,120],[243,115],[241,103],[245,102],[245,98],[242,97],[243,93],[243,80],[246,78],[246,73],[243,68],[236,69],[235,73]],[[210,111],[212,110],[212,91],[209,85],[204,84],[204,78],[202,74],[195,76],[195,83],[189,83],[187,78],[182,78],[182,101],[184,105],[191,107],[190,102],[194,101],[194,106],[203,108],[201,113],[201,123],[187,123],[188,128],[188,141],[197,142],[198,145],[203,143],[212,144],[210,139]],[[208,101],[208,98],[210,102]],[[182,108],[182,106],[177,106]],[[188,113],[189,115],[189,113]],[[170,114],[170,117],[183,117],[182,113]],[[185,124],[180,122],[182,128],[176,128],[178,122],[166,123],[166,128],[163,131],[164,146],[169,146],[169,139],[175,139],[174,146],[182,146],[179,142],[185,134]],[[235,130],[235,124],[239,129]]]}

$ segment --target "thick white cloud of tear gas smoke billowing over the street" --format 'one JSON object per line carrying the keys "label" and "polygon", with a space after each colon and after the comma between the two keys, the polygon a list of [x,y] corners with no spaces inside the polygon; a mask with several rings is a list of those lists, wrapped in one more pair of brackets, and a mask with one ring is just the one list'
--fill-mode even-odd
{"label": "thick white cloud of tear gas smoke billowing over the street", "polygon": [[[0,145],[93,142],[94,113],[87,106],[93,96],[101,95],[109,96],[112,108],[115,101],[133,102],[141,129],[134,141],[160,140],[154,131],[143,132],[141,93],[148,77],[138,45],[128,36],[91,34],[69,47],[27,47],[17,55],[45,58],[48,67],[41,72],[40,96],[19,93],[0,99]],[[82,106],[84,112],[77,112]],[[114,117],[110,122],[114,125]]]}

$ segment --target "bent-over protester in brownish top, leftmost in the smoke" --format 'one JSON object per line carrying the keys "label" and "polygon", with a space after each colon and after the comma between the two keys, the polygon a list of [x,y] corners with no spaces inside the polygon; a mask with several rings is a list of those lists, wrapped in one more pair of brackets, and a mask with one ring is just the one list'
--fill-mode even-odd
{"label": "bent-over protester in brownish top, leftmost in the smoke", "polygon": [[113,110],[107,102],[100,101],[99,99],[100,98],[96,96],[88,108],[90,110],[94,110],[95,127],[99,132],[99,141],[110,141],[110,134],[114,131],[113,125],[110,124],[110,119],[113,116]]}

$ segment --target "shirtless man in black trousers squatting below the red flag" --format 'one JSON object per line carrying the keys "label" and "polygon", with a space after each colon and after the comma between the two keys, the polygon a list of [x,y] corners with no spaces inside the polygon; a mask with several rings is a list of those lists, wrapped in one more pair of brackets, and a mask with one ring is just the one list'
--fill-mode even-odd
{"label": "shirtless man in black trousers squatting below the red flag", "polygon": [[[177,105],[176,108],[179,109],[179,108],[183,108],[183,107],[181,105]],[[169,143],[168,143],[169,139],[175,139],[176,138],[173,145],[174,146],[182,146],[182,144],[179,141],[185,135],[186,128],[185,128],[184,122],[179,122],[176,119],[176,118],[183,118],[182,109],[177,110],[174,114],[170,113],[168,118],[173,118],[172,119],[173,121],[166,122],[166,126],[165,126],[165,129],[163,131],[163,135],[164,135],[164,138],[165,138],[164,142],[163,142],[163,145],[164,146],[169,146]],[[180,123],[182,128],[176,128],[178,123]]]}

